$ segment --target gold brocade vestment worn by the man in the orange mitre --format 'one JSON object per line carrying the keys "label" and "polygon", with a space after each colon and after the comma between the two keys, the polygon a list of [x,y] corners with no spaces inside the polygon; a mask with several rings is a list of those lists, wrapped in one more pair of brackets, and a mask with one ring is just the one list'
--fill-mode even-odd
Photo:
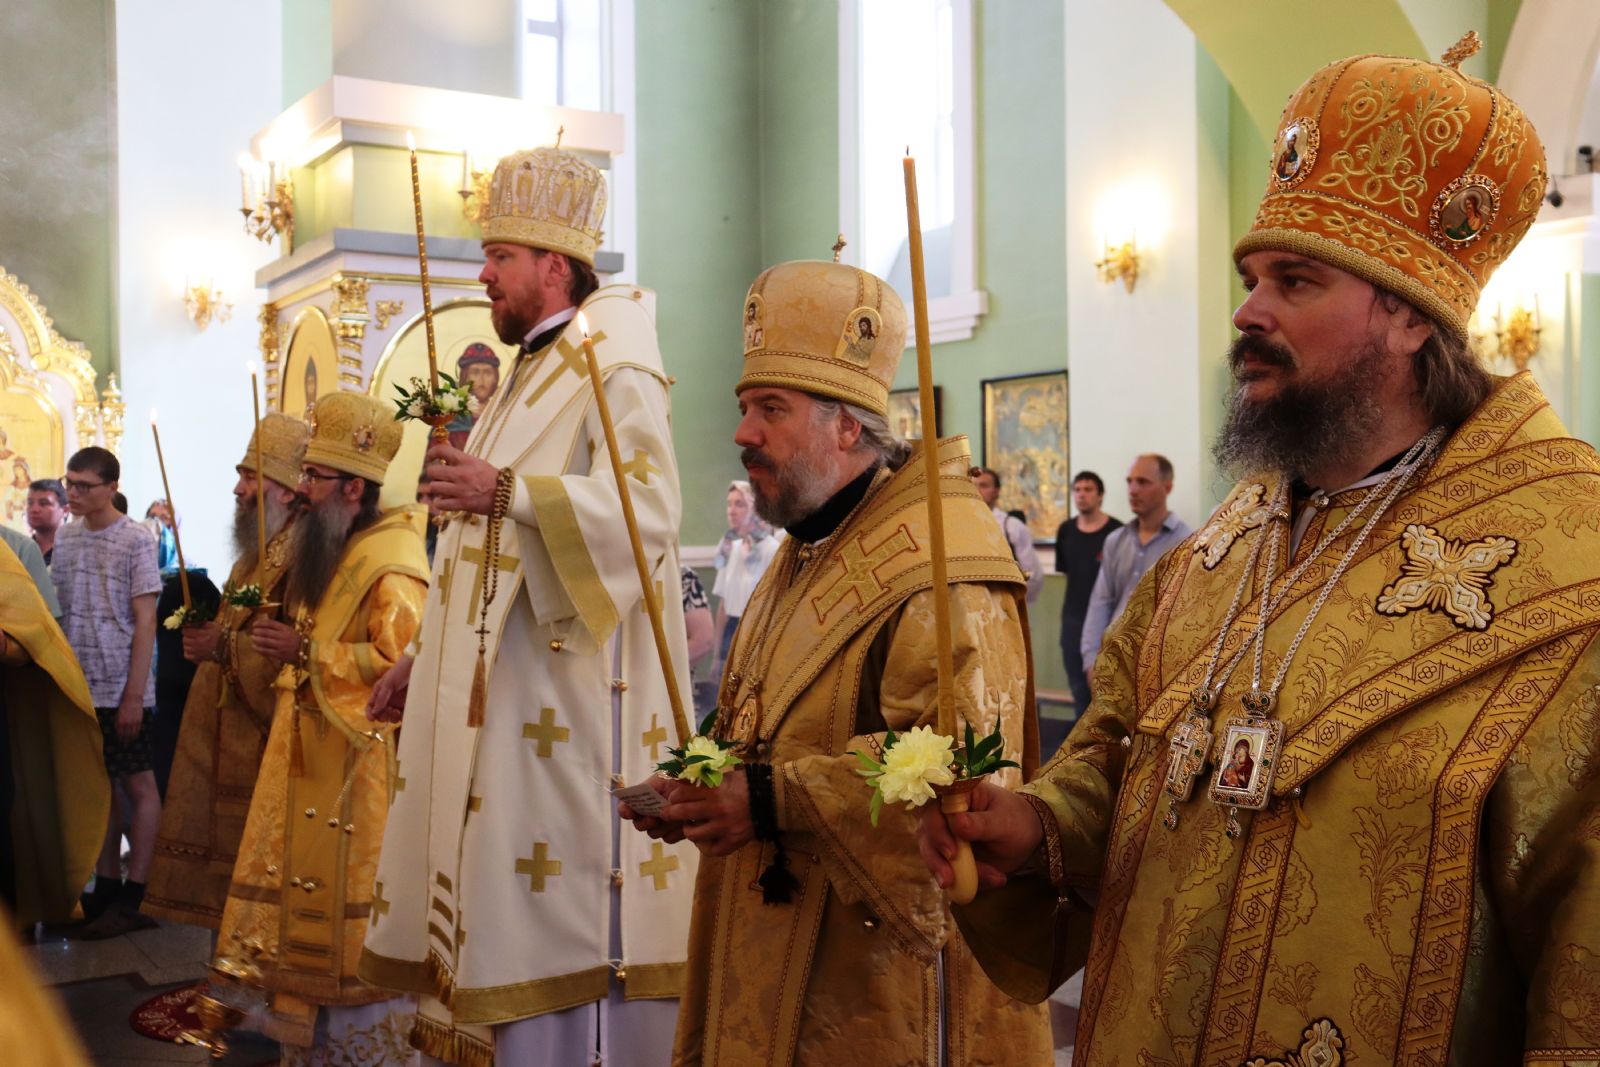
{"label": "gold brocade vestment worn by the man in the orange mitre", "polygon": [[[1267,808],[1229,840],[1206,797],[1246,661],[1213,712],[1210,769],[1166,830],[1168,739],[1254,539],[1282,539],[1278,592],[1366,491],[1334,494],[1291,555],[1259,507],[1275,490],[1240,483],[1146,576],[1094,704],[1029,784],[1056,813],[1059,896],[1014,878],[958,909],[962,928],[1029,1000],[1088,942],[1077,1064],[1594,1062],[1600,461],[1528,374],[1504,381],[1310,625],[1274,712],[1286,739]],[[1282,598],[1264,678],[1358,528]],[[1258,595],[1224,657],[1254,632]]]}

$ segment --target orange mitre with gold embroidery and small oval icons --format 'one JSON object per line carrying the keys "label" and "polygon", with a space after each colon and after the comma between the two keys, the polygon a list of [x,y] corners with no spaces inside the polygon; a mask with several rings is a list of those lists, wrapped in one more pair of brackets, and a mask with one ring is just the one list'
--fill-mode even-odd
{"label": "orange mitre with gold embroidery and small oval icons", "polygon": [[1549,170],[1517,104],[1456,66],[1355,56],[1290,96],[1267,192],[1234,259],[1280,250],[1402,296],[1462,339],[1485,282],[1533,226]]}

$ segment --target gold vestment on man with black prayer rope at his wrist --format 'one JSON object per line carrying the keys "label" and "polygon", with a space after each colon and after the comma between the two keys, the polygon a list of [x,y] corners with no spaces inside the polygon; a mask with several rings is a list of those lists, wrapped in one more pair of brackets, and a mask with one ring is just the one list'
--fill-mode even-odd
{"label": "gold vestment on man with black prayer rope at his wrist", "polygon": [[[1029,771],[1022,576],[966,478],[965,438],[939,450],[957,712],[986,731],[998,715],[1006,753]],[[886,728],[934,721],[925,501],[920,459],[880,470],[826,541],[784,541],[741,616],[722,704],[734,712],[718,733],[773,765],[800,889],[763,904],[755,880],[773,849],[762,841],[701,861],[674,1064],[941,1064],[941,1003],[949,1064],[1051,1062],[1045,1009],[982,976],[917,854],[917,816],[886,806],[872,827],[850,755]]]}

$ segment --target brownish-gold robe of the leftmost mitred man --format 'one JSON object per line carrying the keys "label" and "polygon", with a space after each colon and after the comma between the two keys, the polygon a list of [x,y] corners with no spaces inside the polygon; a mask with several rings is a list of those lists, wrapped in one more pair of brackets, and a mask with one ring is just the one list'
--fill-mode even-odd
{"label": "brownish-gold robe of the leftmost mitred man", "polygon": [[[290,531],[267,544],[266,573],[234,565],[232,587],[261,585],[277,600]],[[261,771],[280,664],[250,643],[251,608],[222,601],[218,661],[195,669],[184,701],[184,721],[173,757],[173,776],[162,801],[162,830],[144,894],[144,910],[158,918],[216,929],[222,921],[227,883],[238,859],[238,838]]]}

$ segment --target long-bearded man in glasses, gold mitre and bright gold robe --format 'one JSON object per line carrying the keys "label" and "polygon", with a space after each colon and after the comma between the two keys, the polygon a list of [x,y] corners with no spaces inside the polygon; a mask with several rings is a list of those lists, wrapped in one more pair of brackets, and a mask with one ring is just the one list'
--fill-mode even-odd
{"label": "long-bearded man in glasses, gold mitre and bright gold robe", "polygon": [[[355,965],[382,907],[373,881],[395,784],[394,731],[366,721],[366,702],[422,617],[426,515],[378,506],[400,448],[392,408],[336,392],[317,400],[310,422],[283,603],[250,625],[254,651],[278,667],[277,704],[216,969],[259,968],[262,1029],[317,1048],[317,1062],[408,1064],[411,998],[365,984]],[[270,544],[267,555],[270,566]]]}

